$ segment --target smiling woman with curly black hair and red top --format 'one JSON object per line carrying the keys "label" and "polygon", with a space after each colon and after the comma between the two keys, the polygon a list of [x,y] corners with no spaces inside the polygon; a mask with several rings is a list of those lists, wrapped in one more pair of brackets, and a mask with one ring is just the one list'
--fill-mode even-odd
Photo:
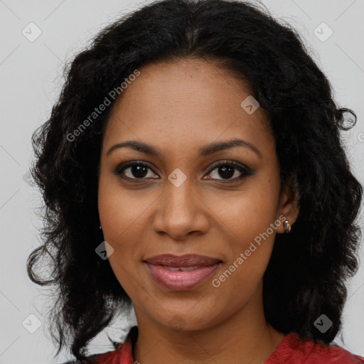
{"label": "smiling woman with curly black hair and red top", "polygon": [[[358,266],[362,187],[340,139],[355,121],[298,34],[252,4],[156,1],[105,28],[33,136],[46,226],[28,274],[59,288],[58,353],[363,363],[330,345]],[[131,305],[124,343],[87,356]]]}

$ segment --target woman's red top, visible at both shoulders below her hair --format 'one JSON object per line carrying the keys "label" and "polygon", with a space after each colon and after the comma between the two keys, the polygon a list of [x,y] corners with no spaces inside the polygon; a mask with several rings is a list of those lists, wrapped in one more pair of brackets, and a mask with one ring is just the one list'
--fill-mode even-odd
{"label": "woman's red top, visible at both shoulders below her hair", "polygon": [[[92,364],[134,364],[133,346],[137,341],[137,326],[133,326],[124,343],[116,350],[99,354]],[[350,354],[338,346],[326,346],[309,339],[300,339],[295,333],[284,336],[274,353],[264,364],[360,364],[364,358]]]}

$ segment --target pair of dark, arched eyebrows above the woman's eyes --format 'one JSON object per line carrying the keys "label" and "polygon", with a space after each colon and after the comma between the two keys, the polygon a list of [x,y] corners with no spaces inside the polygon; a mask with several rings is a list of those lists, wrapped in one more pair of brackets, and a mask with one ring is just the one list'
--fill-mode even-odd
{"label": "pair of dark, arched eyebrows above the woman's eyes", "polygon": [[[249,141],[245,141],[243,139],[232,139],[228,141],[215,141],[214,143],[205,145],[200,147],[198,150],[200,153],[200,156],[208,156],[210,154],[214,154],[218,151],[224,151],[226,149],[230,149],[233,146],[244,146],[249,148],[250,150],[254,151],[255,154],[257,154],[260,158],[262,158],[262,154],[260,153],[259,149],[257,149],[256,146],[251,144]],[[142,141],[136,141],[136,140],[129,140],[129,141],[123,141],[122,143],[114,144],[108,151],[106,156],[109,156],[109,154],[112,153],[115,149],[123,148],[123,147],[129,147],[136,151],[141,151],[141,153],[150,154],[151,156],[157,156],[161,157],[161,151],[156,149],[154,146],[151,146],[150,144],[146,144]]]}

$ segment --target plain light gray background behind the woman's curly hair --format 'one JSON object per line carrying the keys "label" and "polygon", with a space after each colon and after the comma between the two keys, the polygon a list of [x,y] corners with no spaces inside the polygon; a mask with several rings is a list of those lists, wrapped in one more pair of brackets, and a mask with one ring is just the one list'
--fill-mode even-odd
{"label": "plain light gray background behind the woman's curly hair", "polygon": [[[26,259],[40,245],[37,229],[41,227],[36,217],[41,204],[38,190],[23,178],[32,155],[31,134],[50,115],[63,83],[65,60],[73,58],[110,21],[149,2],[0,0],[0,364],[63,363],[72,358],[64,351],[53,360],[55,348],[45,332],[50,300],[47,291],[33,284],[26,274]],[[289,21],[304,36],[314,59],[331,80],[339,105],[357,113],[357,126],[344,138],[354,173],[363,184],[363,0],[263,3],[275,17]],[[42,32],[33,42],[22,34],[31,22]],[[333,30],[326,41],[314,34],[322,22]],[[321,33],[328,34],[324,29]],[[363,213],[360,218],[363,226]],[[336,343],[364,355],[364,264],[350,282],[348,297],[343,315],[345,345],[338,337]],[[28,322],[28,327],[36,327],[31,314],[41,321],[34,333],[22,325]],[[134,311],[131,314],[135,320]],[[112,350],[105,332],[118,338],[124,333],[121,328],[127,329],[132,323],[127,319],[116,321],[92,341],[90,353]]]}

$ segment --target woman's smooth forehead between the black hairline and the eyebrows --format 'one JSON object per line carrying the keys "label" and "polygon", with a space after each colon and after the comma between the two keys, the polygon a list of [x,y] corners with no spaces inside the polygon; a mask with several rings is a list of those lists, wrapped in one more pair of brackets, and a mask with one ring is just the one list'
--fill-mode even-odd
{"label": "woman's smooth forehead between the black hairline and the eyebrows", "polygon": [[240,136],[257,144],[269,139],[269,120],[262,107],[252,114],[242,107],[252,97],[249,84],[218,63],[183,59],[153,63],[139,71],[114,104],[106,144],[130,138],[165,144],[169,139],[175,147],[186,137],[194,145],[219,137]]}

